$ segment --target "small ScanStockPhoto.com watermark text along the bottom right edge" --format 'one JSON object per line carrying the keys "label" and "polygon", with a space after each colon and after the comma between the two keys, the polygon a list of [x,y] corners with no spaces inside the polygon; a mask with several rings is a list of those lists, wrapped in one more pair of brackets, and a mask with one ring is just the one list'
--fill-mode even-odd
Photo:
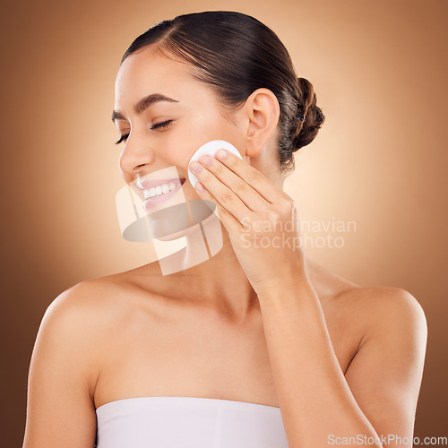
{"label": "small ScanStockPhoto.com watermark text along the bottom right edge", "polygon": [[397,434],[378,435],[372,437],[364,434],[352,435],[349,437],[340,437],[333,434],[328,435],[327,440],[329,445],[381,445],[387,446],[388,444],[405,445],[446,445],[448,444],[448,437],[401,437]]}

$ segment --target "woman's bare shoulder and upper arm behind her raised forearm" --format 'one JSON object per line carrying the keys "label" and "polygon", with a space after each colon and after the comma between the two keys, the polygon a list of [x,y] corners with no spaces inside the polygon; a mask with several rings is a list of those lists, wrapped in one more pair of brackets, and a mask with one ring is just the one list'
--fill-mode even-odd
{"label": "woman's bare shoulder and upper arm behind her raised forearm", "polygon": [[359,408],[378,435],[411,440],[427,340],[418,298],[396,287],[361,287],[313,262],[310,267],[336,354],[345,341],[354,342],[343,373]]}

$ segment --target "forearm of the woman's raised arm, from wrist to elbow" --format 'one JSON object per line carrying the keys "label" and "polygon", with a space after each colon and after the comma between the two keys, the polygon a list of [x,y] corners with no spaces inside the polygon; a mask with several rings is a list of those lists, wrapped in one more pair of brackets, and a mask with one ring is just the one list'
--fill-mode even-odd
{"label": "forearm of the woman's raised arm, from wrist to elbow", "polygon": [[307,277],[289,289],[271,284],[258,297],[290,448],[329,446],[329,435],[376,438],[340,369],[319,298]]}

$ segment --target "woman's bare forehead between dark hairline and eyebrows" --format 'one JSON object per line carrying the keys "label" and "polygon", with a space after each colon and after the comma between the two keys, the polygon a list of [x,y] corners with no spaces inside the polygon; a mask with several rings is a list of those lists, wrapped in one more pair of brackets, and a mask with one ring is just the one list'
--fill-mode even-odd
{"label": "woman's bare forehead between dark hairline and eyebrows", "polygon": [[168,59],[145,47],[127,56],[116,75],[115,108],[129,110],[131,105],[151,93],[162,93],[188,102],[211,99],[211,92],[194,80],[193,68]]}

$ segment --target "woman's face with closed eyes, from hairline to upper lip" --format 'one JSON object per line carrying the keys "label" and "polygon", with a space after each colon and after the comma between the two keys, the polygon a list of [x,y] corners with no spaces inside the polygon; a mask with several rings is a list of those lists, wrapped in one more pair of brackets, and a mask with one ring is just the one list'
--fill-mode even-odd
{"label": "woman's face with closed eyes, from hairline to upper lip", "polygon": [[[120,154],[119,167],[127,184],[164,168],[188,179],[188,162],[194,152],[211,140],[231,142],[244,156],[244,134],[222,115],[218,99],[205,84],[187,73],[188,65],[156,55],[144,47],[127,56],[116,77],[115,124],[121,136],[129,134]],[[173,100],[134,106],[149,95]],[[166,123],[168,122],[168,123]],[[154,125],[165,124],[153,128]],[[164,171],[160,171],[163,173]],[[165,173],[167,171],[165,170]],[[199,196],[187,181],[185,198]]]}

